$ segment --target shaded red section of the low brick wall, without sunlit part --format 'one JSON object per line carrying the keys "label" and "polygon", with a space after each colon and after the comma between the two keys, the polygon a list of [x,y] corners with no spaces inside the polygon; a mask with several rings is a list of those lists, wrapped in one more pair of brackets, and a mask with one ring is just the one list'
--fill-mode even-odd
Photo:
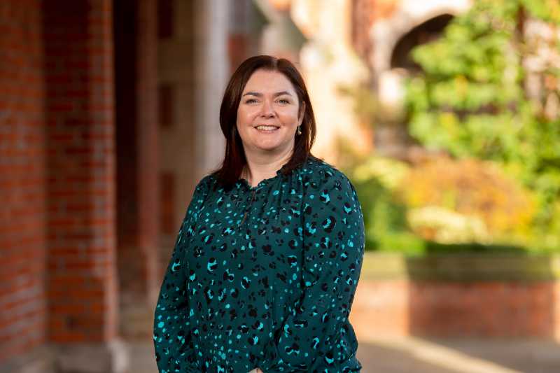
{"label": "shaded red section of the low brick wall, without sunlit part", "polygon": [[552,338],[558,329],[554,281],[411,285],[413,335]]}

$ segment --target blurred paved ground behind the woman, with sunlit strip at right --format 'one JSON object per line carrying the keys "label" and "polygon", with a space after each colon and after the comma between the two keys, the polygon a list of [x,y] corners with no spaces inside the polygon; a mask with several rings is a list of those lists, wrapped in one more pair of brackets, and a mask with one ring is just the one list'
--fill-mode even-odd
{"label": "blurred paved ground behind the woman, with sunlit strip at right", "polygon": [[[130,346],[131,372],[158,372],[151,342]],[[560,344],[528,339],[368,339],[360,340],[358,359],[362,373],[559,373]]]}

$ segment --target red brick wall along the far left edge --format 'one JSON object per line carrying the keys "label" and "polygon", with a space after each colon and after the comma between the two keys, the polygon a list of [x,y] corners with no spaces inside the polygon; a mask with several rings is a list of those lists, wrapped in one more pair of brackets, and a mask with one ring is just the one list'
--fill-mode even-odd
{"label": "red brick wall along the far left edge", "polygon": [[40,1],[1,1],[0,361],[45,340],[42,65]]}

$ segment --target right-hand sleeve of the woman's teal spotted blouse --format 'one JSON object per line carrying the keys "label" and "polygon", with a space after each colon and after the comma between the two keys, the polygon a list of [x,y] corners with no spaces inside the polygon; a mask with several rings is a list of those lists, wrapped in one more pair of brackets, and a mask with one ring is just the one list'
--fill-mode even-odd
{"label": "right-hand sleeve of the woman's teal spotted blouse", "polygon": [[357,348],[347,318],[363,261],[363,216],[344,174],[321,175],[304,197],[302,297],[265,346],[265,373],[352,368],[344,368]]}

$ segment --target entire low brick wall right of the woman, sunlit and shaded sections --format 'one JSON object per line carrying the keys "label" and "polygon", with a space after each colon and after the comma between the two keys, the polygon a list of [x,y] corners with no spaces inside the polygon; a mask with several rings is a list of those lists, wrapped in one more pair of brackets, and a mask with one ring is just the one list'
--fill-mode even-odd
{"label": "entire low brick wall right of the woman, sunlit and shaded sections", "polygon": [[356,335],[560,339],[560,283],[360,280]]}

